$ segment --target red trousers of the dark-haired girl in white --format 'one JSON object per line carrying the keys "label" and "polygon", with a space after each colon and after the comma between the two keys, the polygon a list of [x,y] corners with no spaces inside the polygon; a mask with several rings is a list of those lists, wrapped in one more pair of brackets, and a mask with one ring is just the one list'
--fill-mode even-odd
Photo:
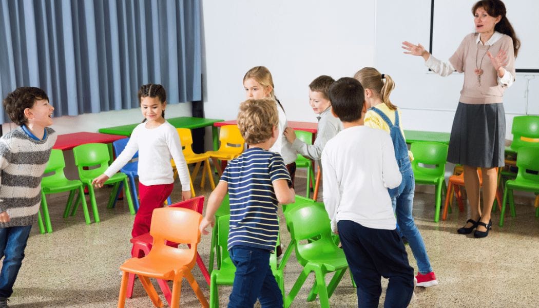
{"label": "red trousers of the dark-haired girl in white", "polygon": [[174,188],[174,183],[145,186],[139,182],[140,207],[133,223],[132,237],[150,232],[151,213],[162,208]]}

